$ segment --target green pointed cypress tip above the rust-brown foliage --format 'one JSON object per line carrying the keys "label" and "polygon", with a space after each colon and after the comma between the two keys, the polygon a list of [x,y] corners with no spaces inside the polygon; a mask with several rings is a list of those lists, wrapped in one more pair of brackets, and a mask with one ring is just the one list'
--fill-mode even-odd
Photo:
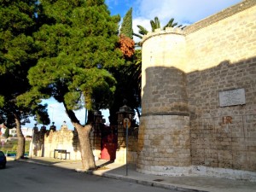
{"label": "green pointed cypress tip above the rust-brown foliage", "polygon": [[120,34],[132,39],[132,8],[127,11],[120,28]]}

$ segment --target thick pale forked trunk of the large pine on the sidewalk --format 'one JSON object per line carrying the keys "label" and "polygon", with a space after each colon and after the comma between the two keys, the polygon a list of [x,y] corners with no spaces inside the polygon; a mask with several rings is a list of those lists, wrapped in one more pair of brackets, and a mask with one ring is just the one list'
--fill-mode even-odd
{"label": "thick pale forked trunk of the large pine on the sidewalk", "polygon": [[75,128],[78,131],[79,135],[79,144],[80,144],[80,152],[82,158],[83,169],[90,170],[96,168],[96,163],[94,160],[94,155],[92,153],[92,149],[90,146],[90,131],[91,125],[79,125],[76,124]]}

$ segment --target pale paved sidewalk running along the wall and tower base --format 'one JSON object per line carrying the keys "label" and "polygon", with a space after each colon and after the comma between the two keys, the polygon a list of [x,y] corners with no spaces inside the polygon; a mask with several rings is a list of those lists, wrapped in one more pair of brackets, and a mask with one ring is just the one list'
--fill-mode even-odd
{"label": "pale paved sidewalk running along the wall and tower base", "polygon": [[[37,163],[44,166],[57,166],[81,171],[82,163],[80,160],[60,160],[49,159],[45,157],[35,157],[32,159],[21,160],[29,163]],[[144,185],[160,187],[165,189],[174,189],[177,191],[200,191],[200,192],[255,192],[256,183],[231,180],[217,177],[166,177],[155,176],[136,172],[136,165],[128,166],[128,175],[126,176],[126,166],[119,165],[107,160],[96,160],[96,171],[90,174],[122,179],[131,183],[140,183]]]}

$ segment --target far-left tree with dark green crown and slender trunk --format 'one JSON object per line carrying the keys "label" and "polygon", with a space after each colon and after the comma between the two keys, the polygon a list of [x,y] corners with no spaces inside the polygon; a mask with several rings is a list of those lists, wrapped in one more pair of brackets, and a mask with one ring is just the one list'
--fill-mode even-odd
{"label": "far-left tree with dark green crown and slender trunk", "polygon": [[21,124],[45,108],[38,104],[39,100],[29,102],[32,98],[24,96],[31,89],[27,72],[37,61],[37,46],[32,38],[38,27],[36,12],[36,0],[0,1],[0,123],[17,129],[17,159],[25,153]]}

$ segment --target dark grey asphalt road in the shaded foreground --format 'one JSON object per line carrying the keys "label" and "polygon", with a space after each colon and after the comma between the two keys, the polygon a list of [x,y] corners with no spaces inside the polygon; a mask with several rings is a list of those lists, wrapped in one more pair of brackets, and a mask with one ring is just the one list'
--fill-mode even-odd
{"label": "dark grey asphalt road in the shaded foreground", "polygon": [[[55,166],[8,161],[0,169],[1,192],[172,192]],[[174,191],[173,191],[174,192]]]}

